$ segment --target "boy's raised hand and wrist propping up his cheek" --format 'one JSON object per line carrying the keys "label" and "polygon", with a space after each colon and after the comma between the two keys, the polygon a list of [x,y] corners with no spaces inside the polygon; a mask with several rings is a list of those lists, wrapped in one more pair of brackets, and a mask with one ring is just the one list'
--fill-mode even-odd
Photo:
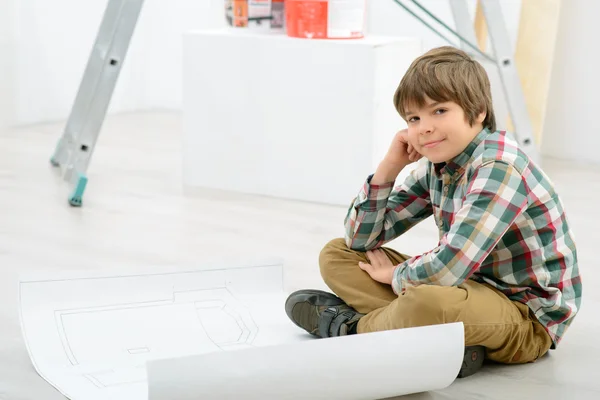
{"label": "boy's raised hand and wrist propping up his cheek", "polygon": [[385,157],[377,167],[371,182],[382,184],[394,181],[400,171],[423,156],[415,150],[408,140],[408,129],[396,133]]}

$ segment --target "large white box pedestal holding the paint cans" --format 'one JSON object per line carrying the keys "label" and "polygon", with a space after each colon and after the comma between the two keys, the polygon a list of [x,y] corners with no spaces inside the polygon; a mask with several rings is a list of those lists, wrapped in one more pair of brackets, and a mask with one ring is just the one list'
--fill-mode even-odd
{"label": "large white box pedestal holding the paint cans", "polygon": [[193,31],[183,47],[183,180],[349,205],[394,134],[412,38]]}

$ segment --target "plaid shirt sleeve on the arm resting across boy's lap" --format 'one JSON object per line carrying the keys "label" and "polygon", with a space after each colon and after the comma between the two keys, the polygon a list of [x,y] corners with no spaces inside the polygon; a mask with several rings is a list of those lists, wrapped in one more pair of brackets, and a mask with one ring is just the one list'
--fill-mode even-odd
{"label": "plaid shirt sleeve on the arm resting across boy's lap", "polygon": [[394,291],[419,284],[457,286],[469,279],[527,208],[528,194],[525,179],[513,166],[502,161],[480,166],[438,247],[395,269]]}

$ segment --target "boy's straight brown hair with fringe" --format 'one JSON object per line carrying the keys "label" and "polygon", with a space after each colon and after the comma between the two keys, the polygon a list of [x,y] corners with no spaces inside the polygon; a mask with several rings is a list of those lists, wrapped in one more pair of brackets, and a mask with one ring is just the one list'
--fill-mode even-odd
{"label": "boy's straight brown hair with fringe", "polygon": [[434,101],[457,103],[470,125],[485,112],[483,127],[492,132],[496,130],[487,73],[481,64],[460,49],[438,47],[414,60],[400,81],[394,105],[406,120],[407,107],[424,106],[425,96]]}

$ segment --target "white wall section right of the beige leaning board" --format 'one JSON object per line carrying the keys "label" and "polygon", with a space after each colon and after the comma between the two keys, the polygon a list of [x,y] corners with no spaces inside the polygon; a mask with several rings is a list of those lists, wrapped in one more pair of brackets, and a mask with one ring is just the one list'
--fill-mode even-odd
{"label": "white wall section right of the beige leaning board", "polygon": [[560,11],[542,153],[600,164],[599,1],[569,1]]}

